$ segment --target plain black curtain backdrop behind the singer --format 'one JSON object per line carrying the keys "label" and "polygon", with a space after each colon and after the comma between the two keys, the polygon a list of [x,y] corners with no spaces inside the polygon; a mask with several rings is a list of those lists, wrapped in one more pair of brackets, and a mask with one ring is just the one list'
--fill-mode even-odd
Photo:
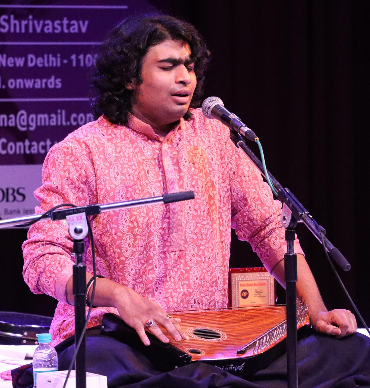
{"label": "plain black curtain backdrop behind the singer", "polygon": [[[200,30],[213,57],[205,97],[220,97],[257,133],[268,169],[349,260],[351,271],[338,271],[369,324],[365,136],[370,2],[152,3]],[[250,147],[258,153],[254,144]],[[328,308],[350,308],[321,244],[303,225],[297,234]],[[26,232],[1,235],[6,284],[2,309],[52,314],[54,301],[33,296],[23,284],[20,244]],[[233,235],[231,267],[259,265],[248,244]]]}

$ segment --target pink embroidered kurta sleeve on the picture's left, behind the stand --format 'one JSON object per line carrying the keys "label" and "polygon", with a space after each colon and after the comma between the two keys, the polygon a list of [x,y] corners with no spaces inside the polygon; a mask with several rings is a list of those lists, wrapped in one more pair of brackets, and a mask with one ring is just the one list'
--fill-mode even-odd
{"label": "pink embroidered kurta sleeve on the picture's left, behind the stand", "polygon": [[[53,206],[72,203],[89,204],[87,179],[94,177],[88,150],[68,142],[54,145],[45,159],[42,186],[35,191],[40,201],[35,213],[44,213]],[[71,251],[73,240],[68,233],[66,220],[39,221],[31,226],[23,243],[23,277],[31,291],[45,293],[68,303],[66,285],[72,275]],[[87,239],[86,239],[87,241]]]}

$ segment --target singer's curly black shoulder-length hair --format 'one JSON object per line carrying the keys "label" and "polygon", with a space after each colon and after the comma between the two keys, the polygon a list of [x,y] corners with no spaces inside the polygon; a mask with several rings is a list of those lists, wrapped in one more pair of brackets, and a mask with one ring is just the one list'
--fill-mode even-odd
{"label": "singer's curly black shoulder-length hair", "polygon": [[[97,55],[90,95],[95,118],[104,114],[111,123],[127,123],[134,91],[126,89],[126,85],[132,80],[138,84],[142,82],[141,68],[145,55],[151,47],[167,39],[182,40],[190,46],[197,78],[190,107],[200,106],[210,52],[195,27],[164,14],[129,16],[109,33]],[[189,117],[188,111],[184,118]]]}

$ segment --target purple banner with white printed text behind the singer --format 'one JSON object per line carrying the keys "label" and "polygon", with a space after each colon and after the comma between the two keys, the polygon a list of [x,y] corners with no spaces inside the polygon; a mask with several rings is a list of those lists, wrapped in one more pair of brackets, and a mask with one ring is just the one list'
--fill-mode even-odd
{"label": "purple banner with white printed text behind the singer", "polygon": [[93,120],[96,46],[132,12],[155,10],[145,0],[90,3],[0,5],[0,217],[30,212],[50,147]]}

